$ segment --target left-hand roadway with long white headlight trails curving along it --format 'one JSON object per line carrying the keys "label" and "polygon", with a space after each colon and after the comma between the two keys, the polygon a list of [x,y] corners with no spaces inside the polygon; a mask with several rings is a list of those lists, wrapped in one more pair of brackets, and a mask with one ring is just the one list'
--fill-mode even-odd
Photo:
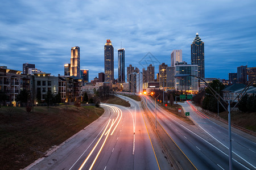
{"label": "left-hand roadway with long white headlight trails curving along it", "polygon": [[25,169],[159,169],[139,104],[101,107],[98,120]]}

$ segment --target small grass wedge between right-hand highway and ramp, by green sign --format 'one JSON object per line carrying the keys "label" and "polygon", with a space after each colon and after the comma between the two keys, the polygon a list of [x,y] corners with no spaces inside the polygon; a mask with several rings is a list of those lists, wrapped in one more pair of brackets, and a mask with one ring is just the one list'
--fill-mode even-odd
{"label": "small grass wedge between right-hand highway and ramp, by green sign", "polygon": [[[160,105],[160,107],[162,107],[164,110],[166,110],[167,112],[171,113],[175,117],[179,118],[180,120],[186,122],[187,124],[195,125],[193,123],[193,121],[188,118],[188,116],[185,116],[185,113],[184,113],[181,105],[179,105],[179,104],[172,104],[172,105],[171,104],[167,104],[167,107],[166,106],[162,106],[162,105]],[[180,113],[179,113],[178,109],[181,109]]]}

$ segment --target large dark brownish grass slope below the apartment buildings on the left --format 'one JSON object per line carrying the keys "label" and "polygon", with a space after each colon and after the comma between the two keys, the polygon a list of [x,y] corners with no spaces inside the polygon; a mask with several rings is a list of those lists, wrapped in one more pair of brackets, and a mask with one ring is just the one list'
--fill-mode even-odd
{"label": "large dark brownish grass slope below the apartment buildings on the left", "polygon": [[42,158],[104,113],[97,107],[34,107],[34,113],[15,107],[10,116],[0,108],[1,169],[20,169]]}

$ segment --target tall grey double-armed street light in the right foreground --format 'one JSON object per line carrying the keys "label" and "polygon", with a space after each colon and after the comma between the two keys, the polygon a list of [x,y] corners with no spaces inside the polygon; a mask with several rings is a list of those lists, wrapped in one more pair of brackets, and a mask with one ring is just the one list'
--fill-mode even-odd
{"label": "tall grey double-armed street light in the right foreground", "polygon": [[[230,105],[238,98],[238,96],[240,96],[242,94],[242,96],[246,93],[246,91],[248,90],[248,88],[250,87],[250,84],[254,81],[251,80],[250,83],[247,84],[247,86],[240,92],[240,94],[237,95],[237,97],[234,100],[228,100],[228,103],[215,91],[213,90],[212,87],[209,86],[209,84],[207,82],[205,82],[204,79],[199,78],[198,76],[195,75],[190,75],[190,74],[177,74],[174,77],[175,78],[183,78],[183,77],[187,77],[187,76],[194,76],[200,80],[203,80],[203,82],[207,85],[207,87],[209,88],[210,92],[212,92],[213,96],[217,99],[216,94],[218,97],[220,97],[220,99],[222,101],[225,102],[225,104],[228,105],[228,124],[229,124],[229,169],[232,169],[232,140],[231,140],[231,111],[233,111],[234,107],[236,107],[236,105],[238,104],[238,101],[236,103],[236,105],[234,105],[233,109],[231,110]],[[242,98],[242,96],[240,97],[240,99]],[[218,100],[218,99],[217,99]],[[239,99],[238,99],[239,100]],[[222,107],[225,109],[225,111],[227,111],[227,109],[224,107],[224,105],[218,100],[218,102],[222,105]]]}

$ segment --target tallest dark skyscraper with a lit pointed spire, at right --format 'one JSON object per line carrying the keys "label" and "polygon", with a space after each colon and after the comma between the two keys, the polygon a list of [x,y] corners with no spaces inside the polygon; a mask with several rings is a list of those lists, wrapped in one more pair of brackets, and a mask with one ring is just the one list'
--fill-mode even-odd
{"label": "tallest dark skyscraper with a lit pointed spire, at right", "polygon": [[191,44],[191,65],[198,65],[198,76],[204,78],[204,42],[198,33]]}

